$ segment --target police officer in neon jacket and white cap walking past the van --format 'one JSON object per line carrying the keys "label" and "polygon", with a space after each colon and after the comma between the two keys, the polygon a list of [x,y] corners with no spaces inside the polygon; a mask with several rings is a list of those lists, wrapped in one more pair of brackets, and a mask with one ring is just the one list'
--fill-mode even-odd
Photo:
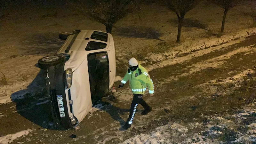
{"label": "police officer in neon jacket and white cap walking past the van", "polygon": [[152,108],[142,99],[147,87],[149,89],[149,94],[154,95],[154,84],[150,79],[147,70],[142,67],[135,58],[129,60],[129,69],[126,72],[123,80],[119,87],[123,87],[124,84],[129,80],[130,88],[132,89],[133,99],[130,109],[130,115],[124,125],[124,129],[129,129],[131,127],[132,121],[135,116],[136,108],[138,104],[141,104],[144,111],[141,115],[147,115],[152,111]]}

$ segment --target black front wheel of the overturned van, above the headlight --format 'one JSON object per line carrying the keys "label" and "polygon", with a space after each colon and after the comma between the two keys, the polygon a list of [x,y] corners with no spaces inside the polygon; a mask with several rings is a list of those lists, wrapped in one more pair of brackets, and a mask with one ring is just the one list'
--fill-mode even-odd
{"label": "black front wheel of the overturned van, above the headlight", "polygon": [[[46,59],[49,59],[49,61],[47,61]],[[51,61],[52,59],[52,61]],[[64,61],[64,58],[61,56],[56,56],[56,55],[51,55],[51,56],[47,56],[47,57],[43,57],[40,60],[38,60],[38,67],[41,69],[48,69],[51,66],[55,66],[61,62]]]}

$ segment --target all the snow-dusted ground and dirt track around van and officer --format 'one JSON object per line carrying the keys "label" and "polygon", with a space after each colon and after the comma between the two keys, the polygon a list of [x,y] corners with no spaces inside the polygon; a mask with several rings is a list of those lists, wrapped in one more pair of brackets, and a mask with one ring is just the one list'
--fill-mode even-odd
{"label": "all the snow-dusted ground and dirt track around van and officer", "polygon": [[[256,29],[251,28],[246,5],[228,12],[221,37],[213,36],[221,25],[223,11],[219,7],[209,5],[188,12],[182,44],[174,44],[177,18],[165,8],[145,5],[141,13],[117,22],[113,28],[115,85],[124,75],[127,60],[136,57],[155,83],[155,96],[145,96],[153,111],[140,116],[139,108],[132,128],[120,131],[132,99],[126,86],[115,93],[117,104],[93,107],[78,132],[60,130],[49,121],[45,72],[36,63],[63,44],[59,32],[105,28],[76,10],[26,5],[11,6],[0,18],[1,144],[255,141],[256,77],[252,66],[256,63]],[[145,38],[150,27],[161,35]],[[4,76],[7,84],[2,81]],[[71,134],[77,137],[72,139]]]}

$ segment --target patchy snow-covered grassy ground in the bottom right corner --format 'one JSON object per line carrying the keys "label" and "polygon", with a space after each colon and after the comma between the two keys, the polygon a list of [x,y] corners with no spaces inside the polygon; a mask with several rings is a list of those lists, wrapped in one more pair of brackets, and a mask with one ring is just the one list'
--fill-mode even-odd
{"label": "patchy snow-covered grassy ground in the bottom right corner", "polygon": [[[255,102],[256,103],[256,102]],[[168,123],[149,134],[136,135],[122,144],[219,144],[256,142],[256,109],[254,103],[248,109],[232,116],[207,117],[205,123]],[[249,120],[249,123],[246,121]],[[200,130],[200,131],[198,131]]]}

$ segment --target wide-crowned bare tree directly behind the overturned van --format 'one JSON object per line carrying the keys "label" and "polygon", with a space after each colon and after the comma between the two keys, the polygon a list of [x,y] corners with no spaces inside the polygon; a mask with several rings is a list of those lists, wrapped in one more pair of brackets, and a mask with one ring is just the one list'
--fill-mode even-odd
{"label": "wide-crowned bare tree directly behind the overturned van", "polygon": [[108,33],[112,32],[113,25],[126,14],[131,12],[129,7],[132,0],[80,0],[72,3],[76,8],[84,11],[93,20],[106,26]]}

